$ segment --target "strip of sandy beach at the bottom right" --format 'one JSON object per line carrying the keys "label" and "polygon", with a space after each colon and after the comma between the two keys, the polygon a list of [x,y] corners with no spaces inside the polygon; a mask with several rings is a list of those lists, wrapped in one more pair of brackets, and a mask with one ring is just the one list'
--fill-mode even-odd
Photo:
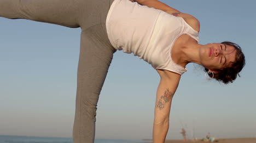
{"label": "strip of sandy beach at the bottom right", "polygon": [[[241,139],[217,139],[219,143],[256,143],[256,138],[241,138]],[[166,140],[165,143],[203,143],[205,141],[188,140],[184,142],[183,140]]]}

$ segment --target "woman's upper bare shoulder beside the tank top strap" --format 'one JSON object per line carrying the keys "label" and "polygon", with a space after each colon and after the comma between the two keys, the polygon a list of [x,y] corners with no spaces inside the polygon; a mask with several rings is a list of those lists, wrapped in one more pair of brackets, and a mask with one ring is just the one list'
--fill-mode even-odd
{"label": "woman's upper bare shoulder beside the tank top strap", "polygon": [[168,14],[174,15],[176,17],[182,17],[185,20],[185,22],[187,22],[189,24],[189,26],[191,26],[197,32],[200,31],[200,22],[199,22],[199,20],[197,20],[196,17],[194,17],[190,14],[185,14],[185,13],[180,13],[180,12],[174,12],[174,13],[168,13]]}

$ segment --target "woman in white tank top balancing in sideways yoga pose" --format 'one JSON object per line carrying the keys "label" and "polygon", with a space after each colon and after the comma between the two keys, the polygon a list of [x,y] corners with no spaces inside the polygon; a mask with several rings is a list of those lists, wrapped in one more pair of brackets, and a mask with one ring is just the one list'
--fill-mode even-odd
{"label": "woman in white tank top balancing in sideways yoga pose", "polygon": [[188,63],[202,65],[206,75],[223,83],[235,80],[245,65],[238,45],[200,45],[199,21],[156,0],[1,0],[0,7],[1,17],[82,29],[75,143],[94,142],[98,96],[117,49],[147,61],[161,77],[155,103],[154,143],[165,141],[172,97]]}

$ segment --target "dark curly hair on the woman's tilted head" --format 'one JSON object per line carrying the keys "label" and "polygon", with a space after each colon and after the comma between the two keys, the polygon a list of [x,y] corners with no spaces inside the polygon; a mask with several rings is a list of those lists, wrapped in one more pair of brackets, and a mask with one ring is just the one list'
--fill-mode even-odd
{"label": "dark curly hair on the woman's tilted head", "polygon": [[[208,73],[208,76],[215,78],[219,82],[223,82],[224,84],[232,83],[237,75],[240,77],[239,72],[243,69],[245,66],[245,55],[242,52],[242,49],[240,46],[238,46],[236,43],[224,41],[222,42],[225,45],[234,46],[236,48],[236,60],[232,62],[231,67],[224,67],[224,69],[217,70],[217,73]],[[205,68],[205,71],[207,72],[208,69]]]}

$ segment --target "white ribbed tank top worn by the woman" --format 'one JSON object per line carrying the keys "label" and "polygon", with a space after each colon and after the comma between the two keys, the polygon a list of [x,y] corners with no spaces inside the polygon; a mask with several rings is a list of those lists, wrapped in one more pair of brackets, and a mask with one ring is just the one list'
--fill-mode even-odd
{"label": "white ribbed tank top worn by the woman", "polygon": [[115,0],[112,3],[106,27],[109,41],[115,49],[133,53],[154,69],[178,74],[183,74],[187,68],[172,60],[174,42],[183,34],[199,41],[198,32],[182,17],[129,0]]}

